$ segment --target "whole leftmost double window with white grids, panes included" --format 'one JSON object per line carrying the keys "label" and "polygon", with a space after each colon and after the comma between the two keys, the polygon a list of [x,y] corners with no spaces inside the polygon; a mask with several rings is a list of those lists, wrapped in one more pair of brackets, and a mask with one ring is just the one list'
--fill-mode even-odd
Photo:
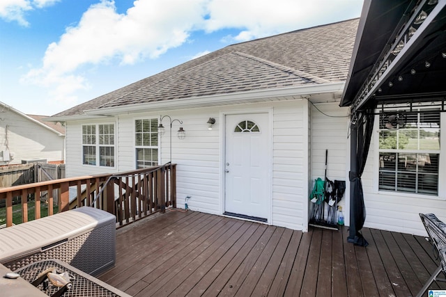
{"label": "whole leftmost double window with white grids, panes included", "polygon": [[114,124],[82,125],[82,163],[114,167],[114,138]]}

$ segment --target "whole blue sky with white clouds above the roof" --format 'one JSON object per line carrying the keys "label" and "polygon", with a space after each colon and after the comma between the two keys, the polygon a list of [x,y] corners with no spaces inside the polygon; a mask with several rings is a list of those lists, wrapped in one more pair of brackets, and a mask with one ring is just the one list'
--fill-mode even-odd
{"label": "whole blue sky with white clouds above the roof", "polygon": [[53,115],[227,45],[361,9],[361,0],[0,0],[0,101]]}

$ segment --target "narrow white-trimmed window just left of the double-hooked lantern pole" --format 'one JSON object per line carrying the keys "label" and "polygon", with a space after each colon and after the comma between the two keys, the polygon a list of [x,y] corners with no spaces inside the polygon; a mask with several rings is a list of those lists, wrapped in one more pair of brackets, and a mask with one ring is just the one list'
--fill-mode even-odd
{"label": "narrow white-trimmed window just left of the double-hooked lantern pole", "polygon": [[158,165],[158,120],[134,121],[134,144],[137,168]]}

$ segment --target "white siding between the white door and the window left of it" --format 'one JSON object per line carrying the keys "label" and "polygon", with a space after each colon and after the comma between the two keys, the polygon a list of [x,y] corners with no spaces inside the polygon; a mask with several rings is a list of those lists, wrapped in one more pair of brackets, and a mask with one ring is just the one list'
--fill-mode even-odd
{"label": "white siding between the white door and the window left of it", "polygon": [[[172,163],[177,163],[176,186],[177,207],[185,207],[185,198],[190,209],[210,214],[222,214],[220,201],[220,127],[222,119],[217,109],[194,109],[183,112],[168,112],[172,123]],[[209,118],[216,122],[212,130],[208,130]],[[161,162],[170,159],[169,152],[169,119],[162,121],[166,133],[161,139]],[[179,139],[177,131],[182,126],[186,137]]]}

